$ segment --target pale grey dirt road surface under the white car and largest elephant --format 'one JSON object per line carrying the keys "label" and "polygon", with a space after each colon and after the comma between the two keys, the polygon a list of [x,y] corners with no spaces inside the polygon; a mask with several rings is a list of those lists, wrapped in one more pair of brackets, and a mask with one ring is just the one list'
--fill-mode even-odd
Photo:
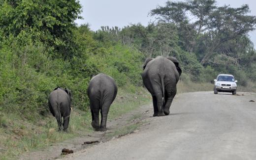
{"label": "pale grey dirt road surface under the white car and largest elephant", "polygon": [[239,94],[179,94],[164,117],[149,105],[148,125],[62,160],[255,160],[256,94]]}

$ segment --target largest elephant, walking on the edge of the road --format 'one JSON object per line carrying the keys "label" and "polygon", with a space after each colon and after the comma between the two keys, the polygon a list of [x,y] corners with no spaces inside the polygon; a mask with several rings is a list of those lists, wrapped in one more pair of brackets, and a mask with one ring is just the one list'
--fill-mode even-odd
{"label": "largest elephant, walking on the edge of the road", "polygon": [[143,83],[153,99],[153,116],[169,115],[172,100],[177,92],[176,84],[182,73],[178,60],[163,56],[147,58],[143,70]]}

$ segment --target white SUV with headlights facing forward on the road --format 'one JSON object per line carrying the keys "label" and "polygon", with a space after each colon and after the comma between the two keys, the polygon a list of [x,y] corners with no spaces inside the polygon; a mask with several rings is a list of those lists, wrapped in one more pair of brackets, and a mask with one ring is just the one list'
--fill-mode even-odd
{"label": "white SUV with headlights facing forward on the road", "polygon": [[214,80],[214,94],[218,94],[218,92],[232,92],[232,94],[236,94],[236,83],[233,75],[218,75],[217,80]]}

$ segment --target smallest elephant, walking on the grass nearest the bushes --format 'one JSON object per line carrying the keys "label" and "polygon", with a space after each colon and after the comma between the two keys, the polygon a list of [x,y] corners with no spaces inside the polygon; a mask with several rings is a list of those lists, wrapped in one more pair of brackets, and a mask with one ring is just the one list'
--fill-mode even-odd
{"label": "smallest elephant, walking on the grass nearest the bushes", "polygon": [[70,109],[71,109],[71,92],[69,89],[57,87],[50,93],[49,109],[56,118],[59,131],[67,131]]}

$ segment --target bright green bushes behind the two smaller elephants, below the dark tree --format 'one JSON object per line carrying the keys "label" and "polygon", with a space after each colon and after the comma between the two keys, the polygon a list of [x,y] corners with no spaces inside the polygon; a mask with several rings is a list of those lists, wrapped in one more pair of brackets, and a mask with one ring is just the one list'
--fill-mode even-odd
{"label": "bright green bushes behind the two smaller elephants, below the dark tree", "polygon": [[[92,76],[105,73],[119,87],[141,86],[143,55],[121,44],[108,46],[95,40],[88,26],[74,30],[74,43],[81,53],[69,59],[52,58],[56,53],[42,42],[20,43],[20,38],[7,39],[0,49],[0,110],[23,114],[48,112],[48,95],[57,86],[71,89],[73,107],[88,110],[87,87]],[[10,43],[12,42],[12,43]]]}

